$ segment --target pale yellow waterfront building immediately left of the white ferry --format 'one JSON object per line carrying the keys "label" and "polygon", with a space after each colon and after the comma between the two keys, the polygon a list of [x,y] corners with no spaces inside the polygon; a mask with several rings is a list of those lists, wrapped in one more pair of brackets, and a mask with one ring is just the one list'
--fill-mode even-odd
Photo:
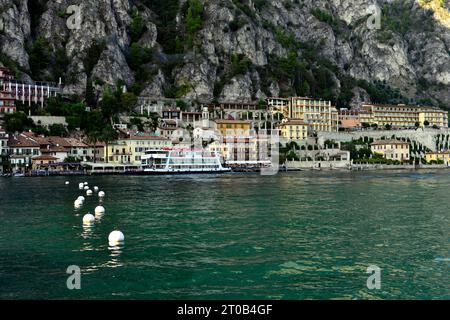
{"label": "pale yellow waterfront building immediately left of the white ferry", "polygon": [[172,147],[171,140],[159,136],[130,136],[105,146],[105,156],[109,163],[140,165],[147,150]]}

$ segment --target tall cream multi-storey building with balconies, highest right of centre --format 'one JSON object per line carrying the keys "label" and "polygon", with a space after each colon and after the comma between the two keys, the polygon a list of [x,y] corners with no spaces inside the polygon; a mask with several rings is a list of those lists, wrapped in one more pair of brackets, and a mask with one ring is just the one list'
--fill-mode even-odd
{"label": "tall cream multi-storey building with balconies, highest right of centre", "polygon": [[272,113],[282,113],[285,118],[302,120],[308,125],[309,132],[337,132],[339,117],[331,101],[316,100],[307,97],[267,98]]}

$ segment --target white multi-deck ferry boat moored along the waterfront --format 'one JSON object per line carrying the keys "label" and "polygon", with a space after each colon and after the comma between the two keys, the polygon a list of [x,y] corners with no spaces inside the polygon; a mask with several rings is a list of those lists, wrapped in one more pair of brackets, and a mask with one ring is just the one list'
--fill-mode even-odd
{"label": "white multi-deck ferry boat moored along the waterfront", "polygon": [[191,149],[149,150],[141,158],[143,174],[223,173],[230,168],[222,166],[215,152]]}

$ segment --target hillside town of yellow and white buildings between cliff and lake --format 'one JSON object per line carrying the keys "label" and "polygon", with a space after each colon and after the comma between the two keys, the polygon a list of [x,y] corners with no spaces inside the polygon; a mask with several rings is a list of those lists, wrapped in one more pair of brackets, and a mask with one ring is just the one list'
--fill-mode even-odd
{"label": "hillside town of yellow and white buildings between cliff and lake", "polygon": [[[39,110],[61,95],[58,85],[20,83],[0,68],[0,88],[0,173],[7,176],[125,173],[139,170],[150,151],[194,146],[220,155],[225,167],[237,171],[273,165],[444,168],[450,162],[448,112],[436,107],[362,103],[339,110],[331,101],[309,97],[180,105],[175,99],[139,97],[133,110],[112,123],[115,138],[102,139],[79,128],[69,132],[67,117],[32,114],[33,105]],[[8,131],[5,122],[18,113],[41,132]]]}

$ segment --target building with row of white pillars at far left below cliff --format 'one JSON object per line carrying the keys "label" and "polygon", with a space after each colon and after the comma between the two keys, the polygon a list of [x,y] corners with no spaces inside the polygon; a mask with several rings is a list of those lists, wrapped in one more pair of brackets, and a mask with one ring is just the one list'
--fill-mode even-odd
{"label": "building with row of white pillars at far left below cliff", "polygon": [[44,106],[44,102],[50,97],[61,94],[61,84],[52,82],[22,82],[15,79],[11,70],[0,68],[0,90],[8,92],[14,100]]}

